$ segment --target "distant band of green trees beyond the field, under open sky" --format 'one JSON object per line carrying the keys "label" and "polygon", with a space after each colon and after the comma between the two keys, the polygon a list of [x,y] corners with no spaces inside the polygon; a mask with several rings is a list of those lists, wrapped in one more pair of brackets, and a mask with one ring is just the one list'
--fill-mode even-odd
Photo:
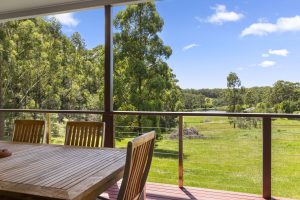
{"label": "distant band of green trees beyond the field, under open sky", "polygon": [[[227,89],[187,89],[183,90],[184,105],[187,110],[207,107],[198,102],[211,98],[212,108],[225,107],[230,112],[256,113],[296,113],[300,110],[300,83],[277,81],[273,87],[241,87],[235,73],[227,77]],[[236,120],[231,120],[232,124]]]}

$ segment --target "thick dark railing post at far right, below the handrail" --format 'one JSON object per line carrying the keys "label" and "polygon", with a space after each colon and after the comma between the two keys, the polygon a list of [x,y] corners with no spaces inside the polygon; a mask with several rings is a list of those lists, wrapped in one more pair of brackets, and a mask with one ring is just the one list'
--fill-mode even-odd
{"label": "thick dark railing post at far right, below the handrail", "polygon": [[263,198],[271,199],[272,119],[263,118]]}

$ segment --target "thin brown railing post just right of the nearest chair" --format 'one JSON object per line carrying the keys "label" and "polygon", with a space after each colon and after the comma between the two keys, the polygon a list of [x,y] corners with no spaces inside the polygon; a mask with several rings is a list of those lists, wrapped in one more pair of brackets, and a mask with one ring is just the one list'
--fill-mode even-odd
{"label": "thin brown railing post just right of the nearest chair", "polygon": [[183,187],[183,116],[179,116],[178,126],[178,186]]}

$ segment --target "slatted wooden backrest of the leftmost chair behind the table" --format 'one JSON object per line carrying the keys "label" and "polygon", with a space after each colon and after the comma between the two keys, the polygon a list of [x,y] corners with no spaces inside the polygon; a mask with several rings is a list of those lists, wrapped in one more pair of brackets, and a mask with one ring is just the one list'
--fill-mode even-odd
{"label": "slatted wooden backrest of the leftmost chair behind the table", "polygon": [[45,121],[15,120],[13,142],[42,143],[44,138]]}

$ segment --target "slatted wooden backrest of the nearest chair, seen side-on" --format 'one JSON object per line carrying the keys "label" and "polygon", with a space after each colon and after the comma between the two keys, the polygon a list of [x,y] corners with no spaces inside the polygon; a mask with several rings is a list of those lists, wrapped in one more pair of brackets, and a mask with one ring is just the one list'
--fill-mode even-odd
{"label": "slatted wooden backrest of the nearest chair, seen side-on", "polygon": [[154,142],[154,131],[128,142],[125,171],[118,200],[137,200],[143,194],[152,162]]}

